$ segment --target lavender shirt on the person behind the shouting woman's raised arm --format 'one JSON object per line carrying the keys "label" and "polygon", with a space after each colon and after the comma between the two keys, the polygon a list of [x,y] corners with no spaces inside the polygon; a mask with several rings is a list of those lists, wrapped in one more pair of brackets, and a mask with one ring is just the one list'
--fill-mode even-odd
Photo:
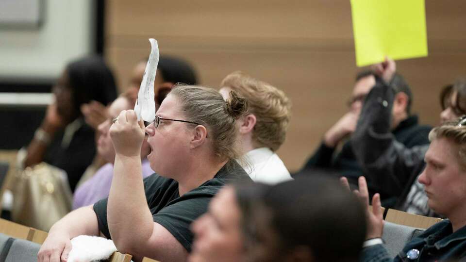
{"label": "lavender shirt on the person behind the shouting woman's raised arm", "polygon": [[[154,171],[150,169],[147,159],[142,161],[142,177],[146,178],[152,175]],[[97,170],[96,174],[85,181],[74,192],[73,210],[80,207],[93,205],[100,199],[107,198],[110,194],[110,186],[113,178],[113,164],[107,163]]]}

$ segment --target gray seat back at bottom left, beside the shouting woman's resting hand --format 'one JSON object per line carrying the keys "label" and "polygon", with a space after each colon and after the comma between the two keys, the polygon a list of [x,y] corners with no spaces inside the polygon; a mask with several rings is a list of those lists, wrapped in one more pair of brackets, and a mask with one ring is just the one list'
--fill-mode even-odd
{"label": "gray seat back at bottom left, beside the shouting woman's resting hand", "polygon": [[15,239],[5,262],[37,262],[40,245],[23,239]]}

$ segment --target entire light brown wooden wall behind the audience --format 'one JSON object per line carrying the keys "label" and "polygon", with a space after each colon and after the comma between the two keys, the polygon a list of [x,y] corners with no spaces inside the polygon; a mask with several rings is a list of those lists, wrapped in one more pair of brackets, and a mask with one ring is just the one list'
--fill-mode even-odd
{"label": "entire light brown wooden wall behind the audience", "polygon": [[[438,92],[466,75],[466,2],[427,0],[429,57],[402,60],[414,112],[438,123]],[[297,170],[323,133],[346,111],[355,73],[349,0],[226,1],[108,0],[105,54],[120,89],[131,68],[149,55],[149,37],[162,54],[191,62],[202,84],[217,87],[234,70],[282,88],[293,102],[291,126],[278,151]]]}

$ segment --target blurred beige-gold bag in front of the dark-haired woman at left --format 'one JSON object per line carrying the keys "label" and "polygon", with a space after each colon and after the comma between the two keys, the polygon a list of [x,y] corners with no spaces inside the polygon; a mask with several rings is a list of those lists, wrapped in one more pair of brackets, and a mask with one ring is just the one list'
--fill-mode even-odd
{"label": "blurred beige-gold bag in front of the dark-haired woman at left", "polygon": [[12,183],[13,221],[49,231],[71,211],[73,197],[62,169],[40,163],[18,172]]}

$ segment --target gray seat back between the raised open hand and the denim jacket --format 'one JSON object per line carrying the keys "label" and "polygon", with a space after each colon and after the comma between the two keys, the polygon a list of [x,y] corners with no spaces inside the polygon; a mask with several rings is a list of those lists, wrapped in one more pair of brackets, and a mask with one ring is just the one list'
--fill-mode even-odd
{"label": "gray seat back between the raised open hand and the denim jacket", "polygon": [[385,241],[388,254],[396,257],[403,247],[414,237],[419,236],[425,229],[412,228],[385,221],[382,238]]}

